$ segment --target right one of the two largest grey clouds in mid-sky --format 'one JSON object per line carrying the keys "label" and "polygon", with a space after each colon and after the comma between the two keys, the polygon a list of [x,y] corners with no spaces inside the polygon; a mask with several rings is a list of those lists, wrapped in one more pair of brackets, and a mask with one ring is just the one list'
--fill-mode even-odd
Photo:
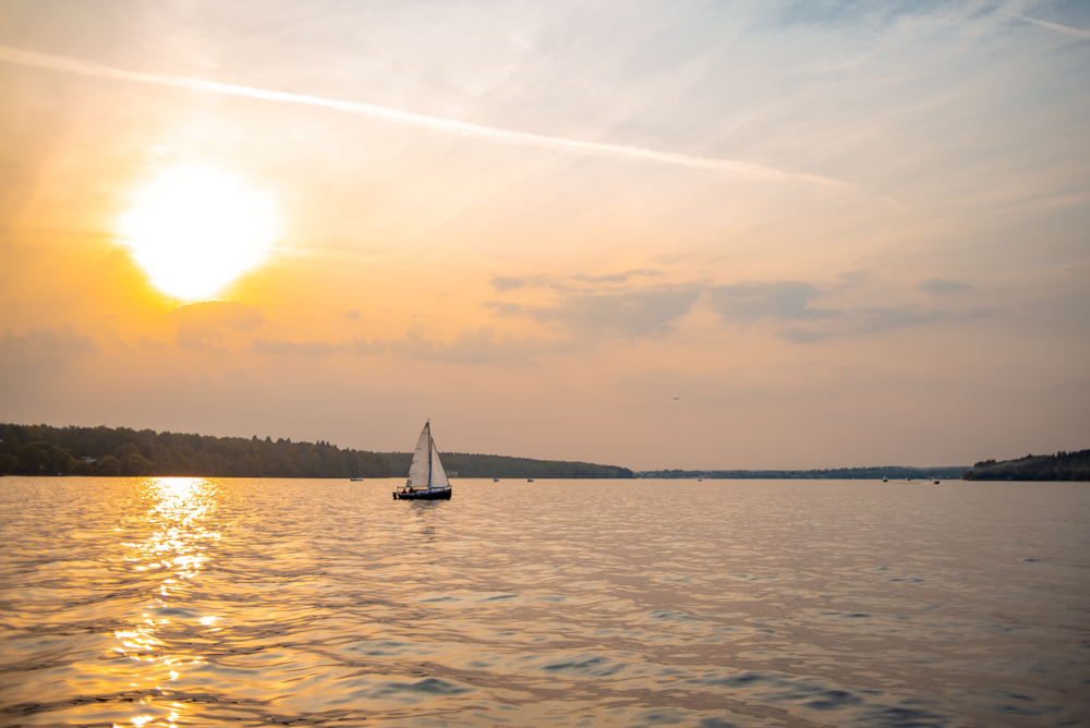
{"label": "right one of the two largest grey clouds in mid-sky", "polygon": [[812,283],[798,280],[735,283],[707,289],[705,298],[724,323],[751,324],[763,319],[812,321],[832,318],[835,308],[812,308],[819,295]]}

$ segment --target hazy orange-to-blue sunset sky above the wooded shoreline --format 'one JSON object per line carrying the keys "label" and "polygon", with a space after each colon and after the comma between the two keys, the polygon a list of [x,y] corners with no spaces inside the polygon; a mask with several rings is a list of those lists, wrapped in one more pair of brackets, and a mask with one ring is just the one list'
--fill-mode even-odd
{"label": "hazy orange-to-blue sunset sky above the wooded shoreline", "polygon": [[1090,447],[1090,3],[0,0],[0,421]]}

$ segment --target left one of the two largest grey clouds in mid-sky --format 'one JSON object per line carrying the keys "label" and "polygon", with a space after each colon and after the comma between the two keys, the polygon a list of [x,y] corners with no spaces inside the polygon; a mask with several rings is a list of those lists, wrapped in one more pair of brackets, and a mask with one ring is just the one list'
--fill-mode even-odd
{"label": "left one of the two largest grey clouds in mid-sky", "polygon": [[571,294],[554,306],[526,307],[541,324],[559,323],[586,335],[641,337],[665,333],[700,298],[695,286],[662,286],[638,291]]}

